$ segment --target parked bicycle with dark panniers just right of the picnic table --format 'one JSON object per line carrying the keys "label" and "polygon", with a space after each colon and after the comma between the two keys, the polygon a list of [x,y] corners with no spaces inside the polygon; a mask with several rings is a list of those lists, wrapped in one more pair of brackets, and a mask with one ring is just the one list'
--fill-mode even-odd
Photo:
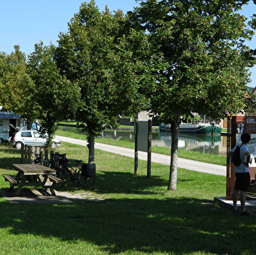
{"label": "parked bicycle with dark panniers just right of the picnic table", "polygon": [[[61,154],[59,156],[60,158],[56,160],[59,161],[59,166],[54,169],[56,169],[56,177],[63,181],[63,183],[59,186],[60,188],[65,186],[68,176],[70,177],[72,182],[78,183],[83,188],[91,187],[92,185],[94,185],[95,174],[94,176],[89,176],[89,173],[86,171],[87,164],[83,164],[82,166],[79,165],[81,162],[83,162],[83,160],[75,160],[76,167],[72,168],[65,154]],[[85,166],[86,170],[84,169]]]}

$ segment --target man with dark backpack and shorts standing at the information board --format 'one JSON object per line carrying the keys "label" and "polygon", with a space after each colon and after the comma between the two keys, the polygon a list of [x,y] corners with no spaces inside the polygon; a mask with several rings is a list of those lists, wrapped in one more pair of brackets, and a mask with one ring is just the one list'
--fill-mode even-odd
{"label": "man with dark backpack and shorts standing at the information board", "polygon": [[241,202],[241,215],[249,216],[249,211],[246,210],[246,191],[249,188],[250,184],[250,175],[249,175],[249,160],[251,155],[249,153],[249,149],[247,147],[249,140],[251,140],[251,135],[248,133],[244,133],[241,136],[242,144],[236,145],[230,152],[230,155],[234,154],[234,151],[237,146],[240,147],[240,158],[242,158],[239,166],[234,167],[234,172],[236,173],[236,181],[234,183],[234,191],[232,194],[234,209],[233,212],[236,213],[239,210],[237,209],[237,201],[238,201],[238,192],[240,191],[240,202]]}

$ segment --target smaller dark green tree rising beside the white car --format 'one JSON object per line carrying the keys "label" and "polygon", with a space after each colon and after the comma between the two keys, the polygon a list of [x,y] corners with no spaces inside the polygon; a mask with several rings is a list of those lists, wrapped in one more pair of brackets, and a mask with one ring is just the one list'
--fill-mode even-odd
{"label": "smaller dark green tree rising beside the white car", "polygon": [[80,88],[59,74],[54,61],[56,47],[35,45],[35,51],[28,57],[27,72],[35,84],[33,102],[37,110],[37,118],[42,124],[41,132],[47,132],[49,138],[46,145],[51,145],[56,130],[56,122],[69,118],[79,104]]}

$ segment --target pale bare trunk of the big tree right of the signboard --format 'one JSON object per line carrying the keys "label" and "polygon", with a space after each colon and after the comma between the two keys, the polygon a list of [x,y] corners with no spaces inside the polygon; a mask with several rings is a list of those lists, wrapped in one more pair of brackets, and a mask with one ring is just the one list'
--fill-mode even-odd
{"label": "pale bare trunk of the big tree right of the signboard", "polygon": [[178,136],[180,130],[180,117],[174,119],[171,123],[172,146],[170,149],[170,179],[168,190],[176,190],[177,172],[178,172]]}

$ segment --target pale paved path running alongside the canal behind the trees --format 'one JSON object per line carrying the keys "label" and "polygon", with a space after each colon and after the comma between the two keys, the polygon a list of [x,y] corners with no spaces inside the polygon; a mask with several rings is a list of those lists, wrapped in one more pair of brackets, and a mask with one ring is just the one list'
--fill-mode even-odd
{"label": "pale paved path running alongside the canal behind the trees", "polygon": [[[68,138],[65,136],[56,136],[56,138],[58,138],[62,142],[74,143],[82,146],[87,145],[87,142],[85,140],[78,140],[74,138]],[[116,153],[131,158],[135,157],[134,149],[127,149],[104,143],[95,143],[95,149],[101,149],[102,151],[108,151],[110,153]],[[138,152],[138,159],[147,160],[147,158],[147,153],[144,153],[142,151]],[[152,153],[152,162],[170,166],[170,156]],[[185,168],[187,170],[193,170],[197,172],[212,173],[216,175],[226,176],[226,166],[219,166],[216,164],[209,164],[185,158],[178,158],[178,168]]]}

